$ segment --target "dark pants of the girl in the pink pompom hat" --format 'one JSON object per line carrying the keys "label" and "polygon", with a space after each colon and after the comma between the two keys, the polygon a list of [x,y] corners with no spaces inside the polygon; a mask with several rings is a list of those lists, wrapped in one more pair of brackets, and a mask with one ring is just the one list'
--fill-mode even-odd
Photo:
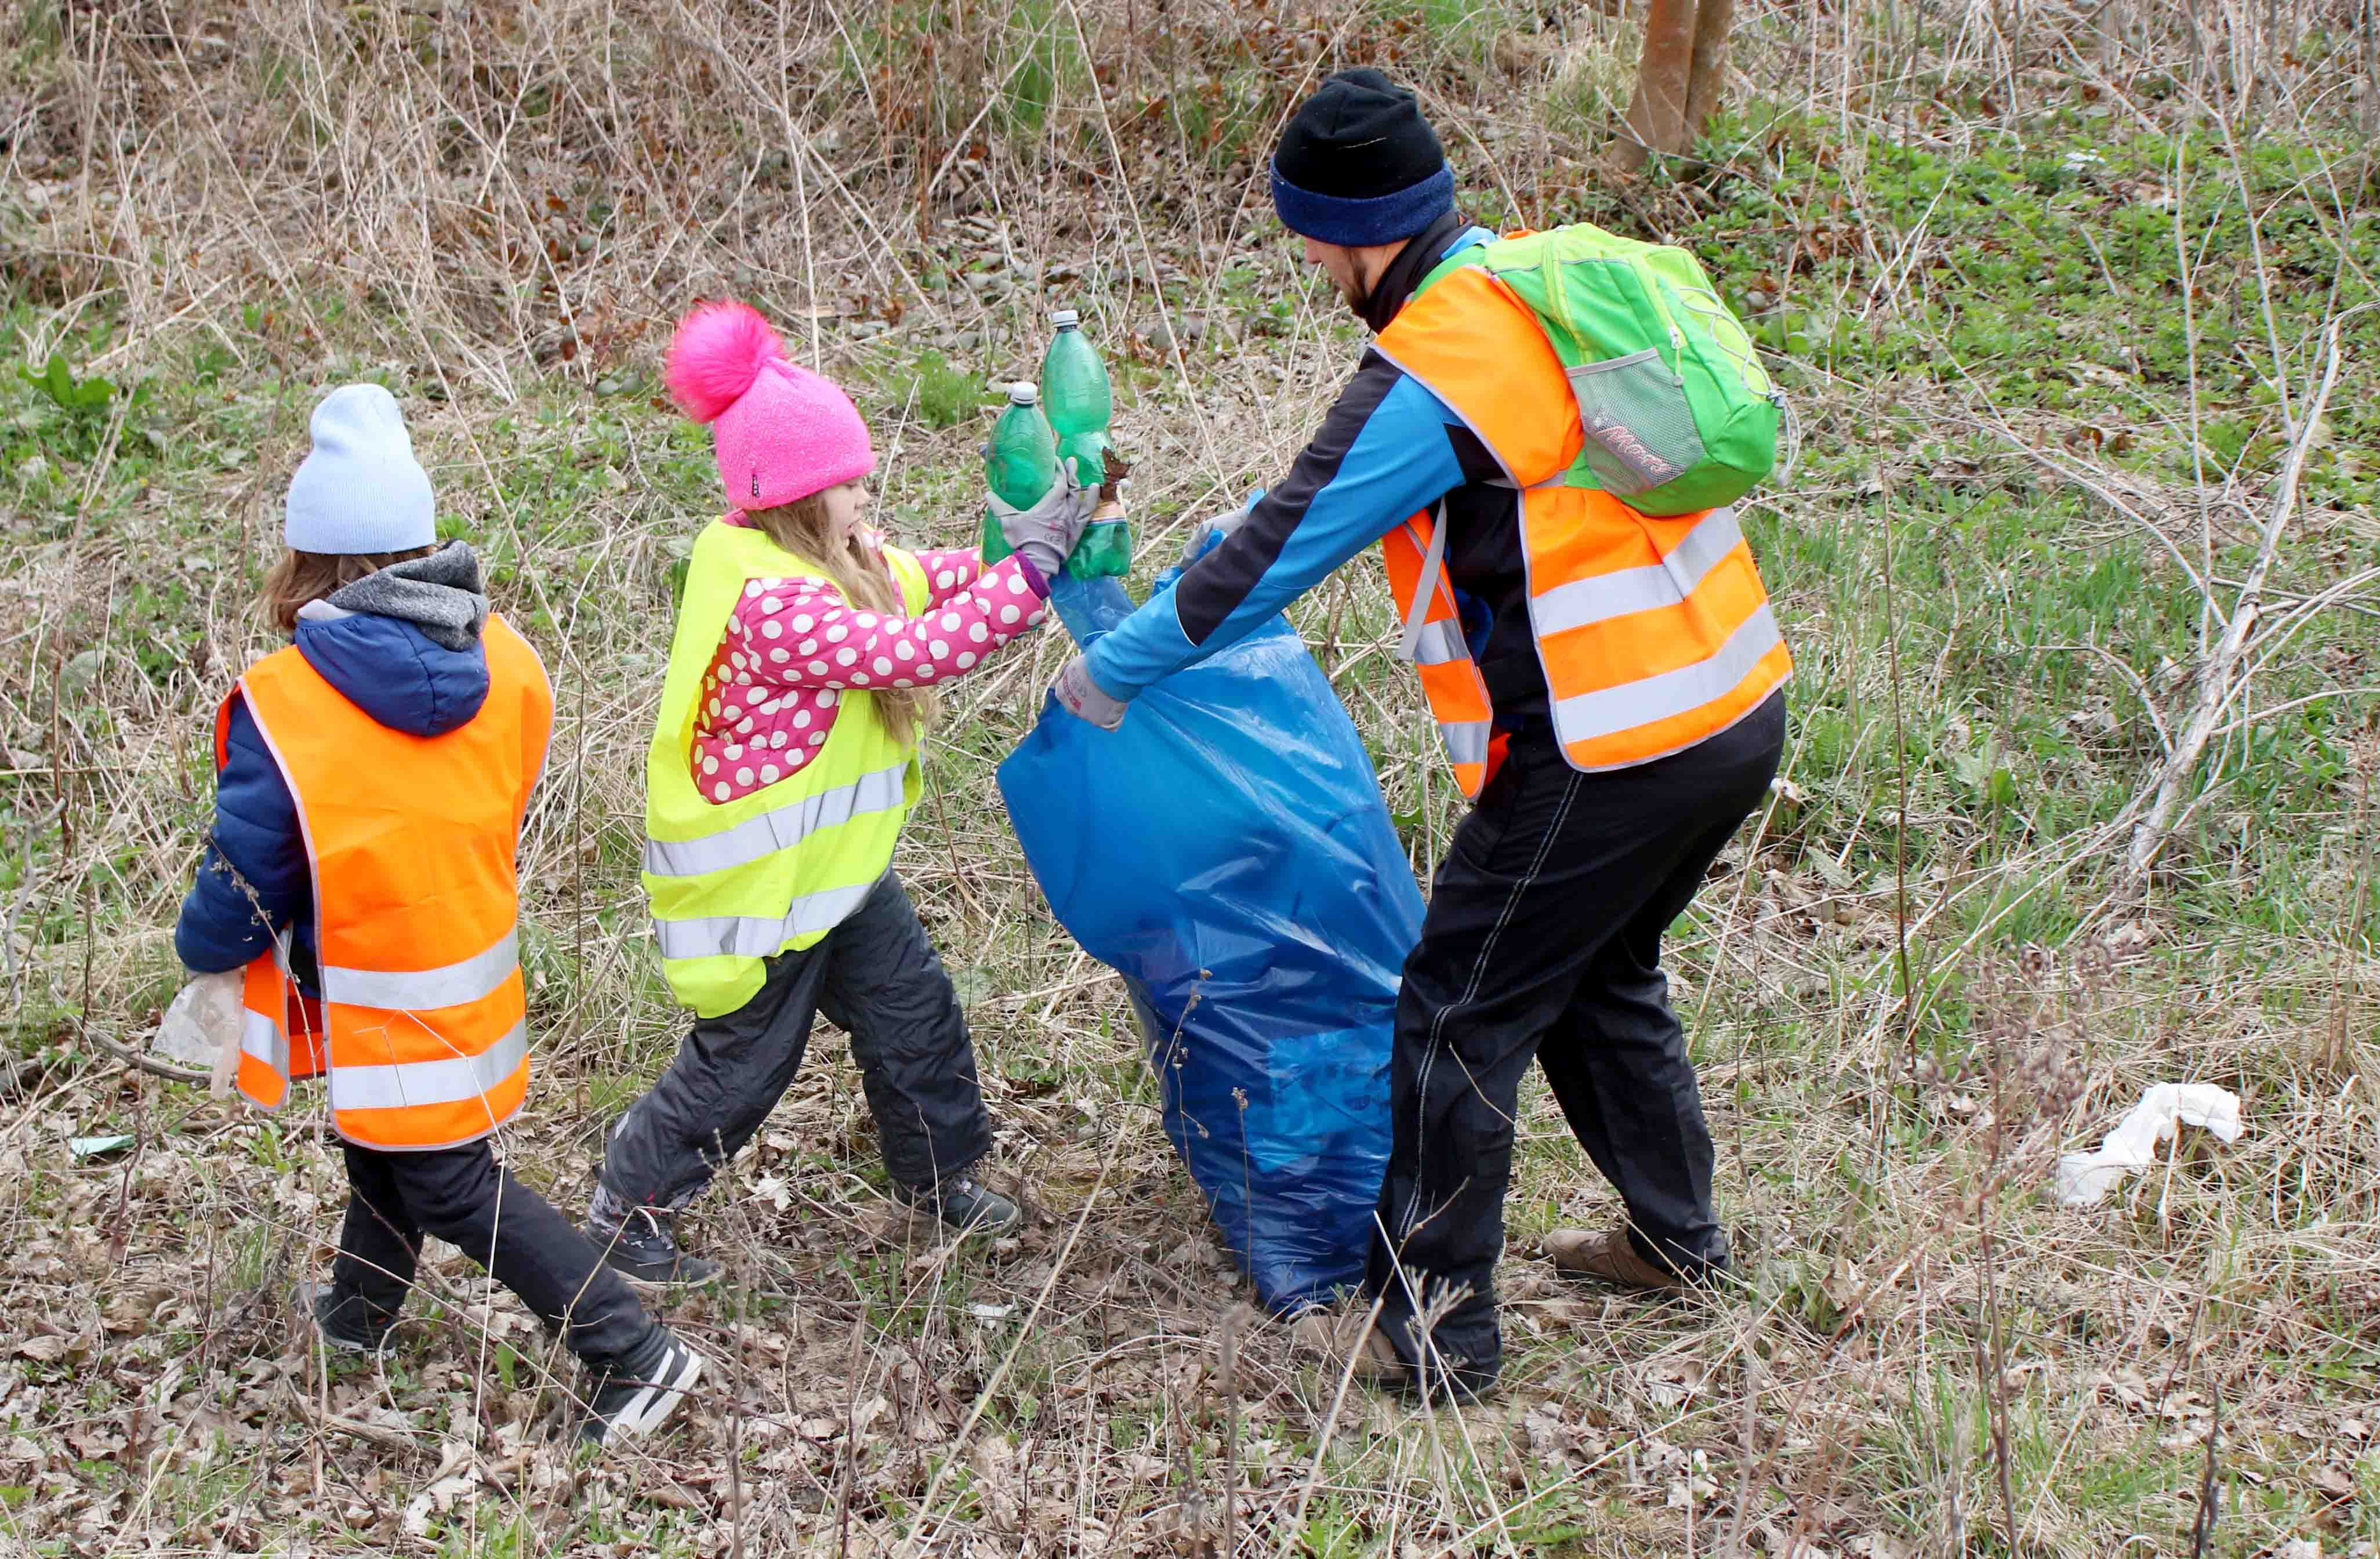
{"label": "dark pants of the girl in the pink pompom hat", "polygon": [[966,1014],[888,871],[826,940],[769,959],[769,978],[750,1002],[695,1019],[669,1071],[612,1133],[605,1190],[628,1207],[693,1202],[785,1097],[821,1012],[852,1035],[876,1140],[897,1183],[931,1190],[990,1152]]}

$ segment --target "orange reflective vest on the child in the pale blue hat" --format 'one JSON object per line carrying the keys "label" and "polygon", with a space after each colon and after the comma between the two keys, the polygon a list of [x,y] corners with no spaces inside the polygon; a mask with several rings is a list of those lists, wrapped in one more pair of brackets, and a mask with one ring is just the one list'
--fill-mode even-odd
{"label": "orange reflective vest on the child in the pale blue hat", "polygon": [[[445,735],[378,724],[295,645],[233,695],[298,802],[321,959],[319,1002],[290,978],[288,931],[248,966],[238,1088],[278,1109],[290,1078],[328,1073],[331,1123],[367,1147],[474,1142],[528,1090],[514,857],[555,690],[505,619],[481,643],[488,702]],[[217,766],[228,738],[231,697]]]}

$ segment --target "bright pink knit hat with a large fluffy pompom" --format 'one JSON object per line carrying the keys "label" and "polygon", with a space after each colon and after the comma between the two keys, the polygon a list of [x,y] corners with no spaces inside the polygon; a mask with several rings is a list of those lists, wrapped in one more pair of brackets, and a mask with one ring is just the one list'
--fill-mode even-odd
{"label": "bright pink knit hat with a large fluffy pompom", "polygon": [[747,302],[704,302],[669,343],[669,393],[712,426],[738,509],[774,509],[876,469],[869,424],[831,381],[785,359]]}

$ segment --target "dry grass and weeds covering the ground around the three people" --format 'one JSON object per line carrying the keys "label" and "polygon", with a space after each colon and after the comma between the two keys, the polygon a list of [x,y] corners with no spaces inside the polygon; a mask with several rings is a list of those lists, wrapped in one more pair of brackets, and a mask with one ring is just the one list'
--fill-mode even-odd
{"label": "dry grass and weeds covering the ground around the three people", "polygon": [[[2380,757],[2354,738],[2380,521],[2356,443],[2380,386],[2354,345],[2254,676],[2147,897],[2116,893],[2159,721],[2192,707],[2254,562],[2285,407],[2370,295],[2370,7],[1747,0],[1749,107],[1723,157],[1623,190],[1595,152],[1635,21],[1559,10],[145,0],[0,19],[14,355],[150,383],[90,414],[0,402],[19,417],[0,431],[0,1542],[2111,1554],[2190,1552],[2213,1516],[2204,1552],[2370,1552]],[[992,802],[1064,650],[1047,636],[952,697],[900,862],[971,1004],[1031,1233],[947,1250],[888,1221],[828,1043],[704,1204],[731,1283],[674,1321],[726,1371],[683,1430],[588,1466],[547,1445],[566,1359],[452,1252],[390,1359],[326,1369],[286,1302],[343,1195],[319,1121],[264,1123],[90,1043],[138,1043],[176,985],[207,712],[267,647],[245,595],[317,388],[405,393],[450,528],[559,683],[524,845],[543,1071],[512,1157],[576,1207],[676,1033],[633,878],[669,578],[709,481],[654,400],[666,321],[724,290],[769,307],[862,388],[897,528],[950,543],[971,528],[973,393],[1028,367],[1042,307],[1081,302],[1119,357],[1154,562],[1176,519],[1283,469],[1352,359],[1257,171],[1314,79],[1373,60],[1426,86],[1466,190],[1504,217],[1697,231],[1773,193],[1737,224],[1759,257],[1730,286],[1780,321],[1790,295],[1804,336],[1802,459],[1754,516],[1802,659],[1797,738],[1673,952],[1742,1292],[1552,1281],[1533,1240],[1611,1204],[1530,1095],[1497,1402],[1347,1392],[1252,1321],[1157,1131],[1121,990],[1054,931]],[[2206,162],[2054,233],[2121,302],[2071,321],[2061,371],[2125,383],[2044,397],[2030,348],[1973,345],[1973,321],[2028,305],[1904,157],[2047,159],[2063,188],[2068,150],[2135,133]],[[2278,195],[2256,174],[2275,143],[2320,152]],[[2225,179],[2247,238],[2223,198],[2192,205]],[[2113,252],[2123,207],[2159,198],[2166,257],[2204,267],[2206,295],[2135,290],[2144,262]],[[2249,328],[2216,338],[2228,288]],[[2185,367],[2152,374],[2185,300]],[[2159,440],[2194,457],[2123,455]],[[2059,547],[1999,557],[1994,514]],[[2044,616],[2044,588],[2085,605]],[[1457,797],[1390,664],[1383,590],[1349,569],[1297,616],[1426,869]],[[2249,1135],[2182,1142],[2106,1211],[2047,1209],[2052,1157],[2163,1078],[2237,1088]],[[69,1152],[102,1131],[136,1147]]]}

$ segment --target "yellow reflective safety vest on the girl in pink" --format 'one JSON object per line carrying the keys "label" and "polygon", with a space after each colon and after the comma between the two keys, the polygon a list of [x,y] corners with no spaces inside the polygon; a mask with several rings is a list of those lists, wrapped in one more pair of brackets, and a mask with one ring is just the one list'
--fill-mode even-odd
{"label": "yellow reflective safety vest on the girl in pink", "polygon": [[[909,616],[921,614],[926,571],[897,547],[885,547],[885,559]],[[752,1000],[764,959],[816,945],[859,907],[892,864],[919,793],[916,747],[892,740],[876,695],[862,688],[843,693],[826,745],[802,769],[733,802],[695,788],[702,676],[745,586],[759,578],[835,588],[764,531],[707,526],[685,566],[662,716],[645,755],[645,895],[662,971],[678,1004],[707,1019]]]}

